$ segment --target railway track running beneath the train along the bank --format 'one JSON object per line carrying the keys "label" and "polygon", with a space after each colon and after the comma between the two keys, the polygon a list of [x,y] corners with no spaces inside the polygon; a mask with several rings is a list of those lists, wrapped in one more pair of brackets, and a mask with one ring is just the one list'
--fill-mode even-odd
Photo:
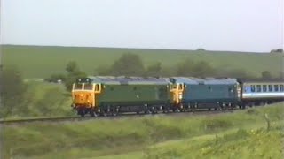
{"label": "railway track running beneath the train along the bank", "polygon": [[120,114],[118,116],[99,116],[99,117],[44,117],[44,118],[27,118],[27,119],[11,119],[11,120],[0,120],[0,125],[21,125],[28,123],[62,123],[70,121],[86,121],[94,119],[117,119],[122,117],[154,117],[154,116],[201,116],[201,115],[217,115],[224,113],[232,113],[233,110],[198,110],[192,112],[169,112],[169,113],[158,113],[158,114]]}

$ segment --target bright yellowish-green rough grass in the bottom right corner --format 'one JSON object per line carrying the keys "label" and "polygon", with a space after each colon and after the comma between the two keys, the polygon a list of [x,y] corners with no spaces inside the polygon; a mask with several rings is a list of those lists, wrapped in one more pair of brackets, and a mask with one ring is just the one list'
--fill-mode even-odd
{"label": "bright yellowish-green rough grass in the bottom right corner", "polygon": [[[216,135],[177,140],[148,149],[148,158],[282,158],[283,125],[267,133],[264,128],[239,129]],[[273,148],[272,148],[273,147]]]}

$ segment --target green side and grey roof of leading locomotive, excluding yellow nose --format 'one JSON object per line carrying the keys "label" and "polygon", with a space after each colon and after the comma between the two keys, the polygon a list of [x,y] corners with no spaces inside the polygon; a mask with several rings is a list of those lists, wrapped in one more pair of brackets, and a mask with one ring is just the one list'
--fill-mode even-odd
{"label": "green side and grey roof of leading locomotive, excluding yellow nose", "polygon": [[[173,102],[170,81],[155,78],[93,77],[99,94],[88,112],[102,115],[119,112],[157,112],[170,107]],[[82,110],[78,110],[82,112]],[[83,114],[81,114],[83,115]]]}

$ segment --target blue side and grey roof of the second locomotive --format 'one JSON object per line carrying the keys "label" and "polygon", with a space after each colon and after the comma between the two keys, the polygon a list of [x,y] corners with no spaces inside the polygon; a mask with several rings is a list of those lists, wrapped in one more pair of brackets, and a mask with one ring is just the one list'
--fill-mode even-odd
{"label": "blue side and grey roof of the second locomotive", "polygon": [[240,100],[236,79],[175,78],[185,85],[181,105],[185,109],[233,108]]}

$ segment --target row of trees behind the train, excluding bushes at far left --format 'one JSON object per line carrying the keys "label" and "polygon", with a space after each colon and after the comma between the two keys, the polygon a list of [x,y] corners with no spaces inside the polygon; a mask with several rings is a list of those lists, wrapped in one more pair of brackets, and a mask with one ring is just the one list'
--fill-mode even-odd
{"label": "row of trees behind the train, excluding bushes at far left", "polygon": [[[86,77],[87,73],[79,69],[75,61],[71,61],[66,66],[65,74],[53,74],[47,81],[56,82],[62,80],[67,90],[70,90],[72,83],[77,78]],[[145,66],[141,57],[137,54],[125,53],[119,57],[113,64],[99,65],[91,74],[94,76],[139,76],[139,77],[172,77],[172,76],[185,76],[185,77],[215,77],[215,78],[238,78],[238,79],[283,79],[283,72],[280,72],[278,77],[273,77],[269,71],[261,72],[260,77],[249,74],[244,69],[227,69],[215,68],[205,61],[193,61],[186,58],[184,61],[171,65],[163,66],[161,62],[156,62]]]}

